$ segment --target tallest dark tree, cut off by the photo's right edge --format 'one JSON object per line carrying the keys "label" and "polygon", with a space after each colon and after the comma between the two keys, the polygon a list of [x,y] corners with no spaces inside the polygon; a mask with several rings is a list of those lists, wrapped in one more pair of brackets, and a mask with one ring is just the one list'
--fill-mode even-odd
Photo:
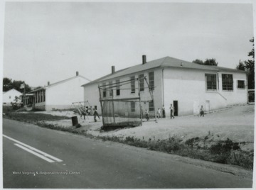
{"label": "tallest dark tree, cut off by the photo's right edge", "polygon": [[252,50],[248,52],[248,56],[252,56],[252,60],[245,61],[245,68],[248,72],[248,89],[255,89],[255,55],[254,55],[254,38],[250,40],[252,43]]}

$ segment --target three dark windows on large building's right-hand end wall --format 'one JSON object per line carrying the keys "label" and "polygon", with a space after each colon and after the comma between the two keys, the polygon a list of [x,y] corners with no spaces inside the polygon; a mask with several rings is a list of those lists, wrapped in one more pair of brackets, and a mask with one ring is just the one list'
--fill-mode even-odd
{"label": "three dark windows on large building's right-hand end wall", "polygon": [[[223,86],[223,90],[226,90],[226,91],[233,90],[233,75],[232,74],[222,74],[222,86]],[[206,89],[207,90],[217,90],[217,75],[216,74],[206,74]],[[245,89],[245,81],[238,80],[238,89]]]}

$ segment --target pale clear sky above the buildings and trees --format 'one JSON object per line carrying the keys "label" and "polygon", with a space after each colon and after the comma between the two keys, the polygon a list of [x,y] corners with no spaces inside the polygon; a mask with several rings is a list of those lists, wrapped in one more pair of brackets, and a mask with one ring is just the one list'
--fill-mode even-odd
{"label": "pale clear sky above the buildings and trees", "polygon": [[[192,1],[191,1],[192,2]],[[242,1],[241,1],[242,2]],[[252,4],[6,1],[3,77],[44,86],[162,57],[250,59]]]}

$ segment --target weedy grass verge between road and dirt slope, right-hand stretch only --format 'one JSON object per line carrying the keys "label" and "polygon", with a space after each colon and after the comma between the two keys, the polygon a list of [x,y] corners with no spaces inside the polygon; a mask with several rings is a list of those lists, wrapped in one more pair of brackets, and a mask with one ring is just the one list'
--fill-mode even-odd
{"label": "weedy grass verge between road and dirt slope, right-hand stretch only", "polygon": [[[140,140],[134,137],[98,137],[102,140],[110,140],[117,143],[124,143],[135,147],[144,147],[148,150],[166,152],[169,154],[180,155],[183,157],[191,157],[194,159],[218,162],[222,164],[234,164],[246,169],[253,169],[253,151],[245,152],[240,150],[238,143],[232,140],[219,141],[210,148],[201,148],[193,146],[200,138],[192,138],[183,143],[182,140],[171,137],[167,140]],[[194,147],[194,148],[191,148]]]}

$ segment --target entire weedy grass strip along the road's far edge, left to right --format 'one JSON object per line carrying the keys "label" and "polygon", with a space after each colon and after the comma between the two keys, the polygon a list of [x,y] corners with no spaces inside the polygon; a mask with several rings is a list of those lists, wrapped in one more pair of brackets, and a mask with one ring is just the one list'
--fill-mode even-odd
{"label": "entire weedy grass strip along the road's far edge, left to right", "polygon": [[[75,133],[79,135],[85,135],[89,138],[95,138],[94,136],[87,133],[86,130],[78,130],[78,126],[73,127],[63,127],[53,124],[45,123],[44,121],[58,121],[61,119],[70,119],[65,116],[52,116],[43,113],[14,113],[8,112],[4,115],[4,118],[10,118],[17,121],[23,121],[26,123],[33,123],[43,128],[49,128],[53,130],[62,130],[69,133]],[[218,142],[212,143],[210,146],[206,146],[210,135],[208,133],[204,138],[191,138],[183,142],[180,138],[169,137],[166,140],[156,140],[155,138],[149,140],[141,140],[139,138],[134,138],[133,136],[128,137],[117,137],[117,136],[97,136],[96,138],[102,140],[109,140],[117,143],[124,143],[127,145],[132,145],[134,147],[142,147],[148,150],[166,152],[169,154],[181,155],[183,157],[191,157],[195,159],[201,159],[211,162],[218,162],[223,164],[235,164],[246,169],[253,169],[253,150],[250,152],[245,152],[240,150],[240,144],[235,143],[230,139],[219,140]]]}

